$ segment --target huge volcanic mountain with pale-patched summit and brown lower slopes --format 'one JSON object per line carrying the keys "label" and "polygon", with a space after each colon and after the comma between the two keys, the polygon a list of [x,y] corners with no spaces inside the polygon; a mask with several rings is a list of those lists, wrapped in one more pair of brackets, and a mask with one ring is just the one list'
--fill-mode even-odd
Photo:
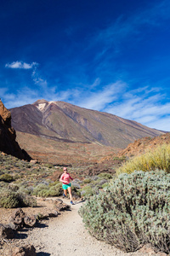
{"label": "huge volcanic mountain with pale-patched summit and brown lower slopes", "polygon": [[10,112],[18,143],[31,157],[59,164],[96,160],[97,154],[116,153],[136,139],[165,133],[67,102],[38,100]]}

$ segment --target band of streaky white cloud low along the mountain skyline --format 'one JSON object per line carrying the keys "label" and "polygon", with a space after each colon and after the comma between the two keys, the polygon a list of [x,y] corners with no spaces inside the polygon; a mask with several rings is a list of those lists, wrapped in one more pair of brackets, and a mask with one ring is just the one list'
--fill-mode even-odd
{"label": "band of streaky white cloud low along the mountain skyline", "polygon": [[31,104],[43,98],[49,102],[70,102],[82,108],[135,120],[150,128],[170,131],[170,102],[164,102],[166,96],[157,87],[145,86],[139,90],[129,90],[128,84],[123,81],[101,87],[100,80],[96,79],[93,84],[86,84],[86,90],[83,86],[58,90],[57,86],[50,87],[46,80],[35,73],[33,79],[37,85],[34,89],[25,86],[14,93],[9,93],[7,88],[0,89],[0,97],[6,108]]}

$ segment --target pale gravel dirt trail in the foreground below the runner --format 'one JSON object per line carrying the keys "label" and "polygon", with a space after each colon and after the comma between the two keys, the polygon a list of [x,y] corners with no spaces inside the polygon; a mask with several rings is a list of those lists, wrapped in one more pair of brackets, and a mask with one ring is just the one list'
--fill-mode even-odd
{"label": "pale gravel dirt trail in the foreground below the runner", "polygon": [[[68,203],[68,201],[65,201]],[[97,241],[88,234],[78,214],[81,203],[71,206],[71,211],[48,221],[44,228],[29,234],[29,242],[36,247],[38,256],[144,256],[145,253],[122,253],[122,251]]]}

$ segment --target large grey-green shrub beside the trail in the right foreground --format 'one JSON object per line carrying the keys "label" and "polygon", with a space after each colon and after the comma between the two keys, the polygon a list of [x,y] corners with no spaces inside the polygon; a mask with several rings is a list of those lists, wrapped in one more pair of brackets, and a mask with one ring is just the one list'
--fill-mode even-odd
{"label": "large grey-green shrub beside the trail in the right foreground", "polygon": [[126,252],[150,243],[170,253],[170,174],[121,174],[79,213],[91,235]]}

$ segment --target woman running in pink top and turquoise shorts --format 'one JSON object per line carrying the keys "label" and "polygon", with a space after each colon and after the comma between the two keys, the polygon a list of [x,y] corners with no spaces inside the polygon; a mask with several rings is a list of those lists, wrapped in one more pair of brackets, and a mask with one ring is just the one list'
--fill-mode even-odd
{"label": "woman running in pink top and turquoise shorts", "polygon": [[63,194],[63,195],[66,197],[66,195],[67,195],[67,189],[68,189],[69,195],[70,195],[70,199],[71,199],[71,205],[74,205],[74,203],[73,203],[73,201],[72,201],[71,181],[70,181],[70,179],[73,180],[73,178],[72,178],[71,175],[67,172],[67,168],[66,168],[66,167],[63,168],[63,171],[64,171],[64,173],[61,175],[61,177],[60,177],[60,179],[59,179],[59,181],[60,181],[61,183],[63,183],[63,184],[62,184],[62,188],[64,189],[64,194]]}

